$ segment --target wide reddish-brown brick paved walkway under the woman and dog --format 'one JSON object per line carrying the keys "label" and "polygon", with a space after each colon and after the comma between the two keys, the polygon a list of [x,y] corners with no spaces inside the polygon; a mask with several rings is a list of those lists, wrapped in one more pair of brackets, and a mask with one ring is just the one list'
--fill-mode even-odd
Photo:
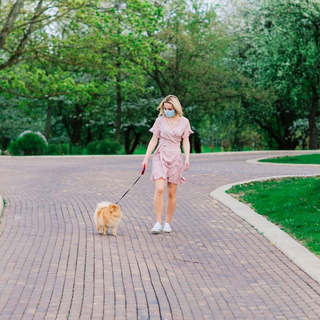
{"label": "wide reddish-brown brick paved walkway under the woman and dog", "polygon": [[0,157],[0,319],[319,319],[320,284],[210,193],[237,181],[320,174],[192,154],[170,234],[154,223],[150,168],[119,202],[118,237],[93,213],[116,202],[143,155]]}

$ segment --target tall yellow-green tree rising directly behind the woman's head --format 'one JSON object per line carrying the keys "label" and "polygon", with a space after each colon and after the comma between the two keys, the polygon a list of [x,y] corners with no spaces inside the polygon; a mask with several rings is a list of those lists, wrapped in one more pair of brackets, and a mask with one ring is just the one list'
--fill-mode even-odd
{"label": "tall yellow-green tree rising directly behind the woman's head", "polygon": [[172,0],[158,10],[163,18],[159,30],[148,33],[152,46],[149,59],[142,61],[144,70],[162,97],[179,98],[195,131],[193,147],[200,152],[200,115],[212,115],[236,95],[223,63],[228,39],[214,8],[201,1]]}

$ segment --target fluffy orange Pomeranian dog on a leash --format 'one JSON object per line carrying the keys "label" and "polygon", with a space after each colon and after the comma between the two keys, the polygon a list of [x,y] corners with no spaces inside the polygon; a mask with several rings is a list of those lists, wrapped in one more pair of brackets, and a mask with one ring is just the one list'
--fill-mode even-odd
{"label": "fluffy orange Pomeranian dog on a leash", "polygon": [[103,201],[97,204],[95,222],[98,232],[106,235],[108,228],[112,228],[113,236],[117,236],[117,228],[121,221],[122,213],[120,205]]}

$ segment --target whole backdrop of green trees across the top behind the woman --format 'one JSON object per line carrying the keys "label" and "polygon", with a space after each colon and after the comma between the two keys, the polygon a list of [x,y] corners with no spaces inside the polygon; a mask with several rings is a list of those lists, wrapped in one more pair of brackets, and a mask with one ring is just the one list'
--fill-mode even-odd
{"label": "whole backdrop of green trees across the top behind the woman", "polygon": [[236,1],[243,7],[229,20],[218,15],[223,5],[207,3],[37,0],[14,13],[3,2],[2,148],[41,128],[58,145],[50,154],[81,154],[105,138],[133,153],[167,94],[178,96],[198,144],[307,148],[308,119],[318,117],[309,115],[319,91],[318,3]]}

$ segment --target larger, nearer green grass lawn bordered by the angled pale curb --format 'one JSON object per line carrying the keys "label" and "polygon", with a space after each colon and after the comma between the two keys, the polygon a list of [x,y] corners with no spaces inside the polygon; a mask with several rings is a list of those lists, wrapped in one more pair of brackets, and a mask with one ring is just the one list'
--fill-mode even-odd
{"label": "larger, nearer green grass lawn bordered by the angled pale curb", "polygon": [[320,256],[320,178],[289,178],[251,182],[227,193],[279,225]]}

